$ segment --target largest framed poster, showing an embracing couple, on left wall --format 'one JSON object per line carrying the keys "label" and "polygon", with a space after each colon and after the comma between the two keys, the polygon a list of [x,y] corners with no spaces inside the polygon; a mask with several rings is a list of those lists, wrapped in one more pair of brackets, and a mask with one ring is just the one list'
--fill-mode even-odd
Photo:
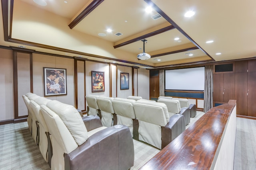
{"label": "largest framed poster, showing an embracing couple, on left wall", "polygon": [[66,69],[44,67],[44,96],[67,94]]}

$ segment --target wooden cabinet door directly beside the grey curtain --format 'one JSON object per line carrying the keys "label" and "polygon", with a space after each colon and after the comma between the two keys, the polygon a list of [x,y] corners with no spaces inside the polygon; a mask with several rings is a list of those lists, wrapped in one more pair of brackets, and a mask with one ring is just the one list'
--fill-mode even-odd
{"label": "wooden cabinet door directly beside the grey curtain", "polygon": [[213,74],[213,101],[223,102],[223,74]]}

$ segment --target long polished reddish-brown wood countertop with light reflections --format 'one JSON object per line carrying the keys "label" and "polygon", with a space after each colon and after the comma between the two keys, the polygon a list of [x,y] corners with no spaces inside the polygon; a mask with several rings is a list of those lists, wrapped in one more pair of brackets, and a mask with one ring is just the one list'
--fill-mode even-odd
{"label": "long polished reddish-brown wood countertop with light reflections", "polygon": [[211,108],[140,170],[207,170],[218,152],[236,100]]}

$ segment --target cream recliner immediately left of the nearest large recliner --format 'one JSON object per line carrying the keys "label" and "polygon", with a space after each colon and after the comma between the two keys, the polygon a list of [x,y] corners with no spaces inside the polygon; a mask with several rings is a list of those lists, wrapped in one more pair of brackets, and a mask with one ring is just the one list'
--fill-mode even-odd
{"label": "cream recliner immediately left of the nearest large recliner", "polygon": [[44,120],[44,117],[42,115],[42,111],[40,110],[40,106],[46,105],[50,101],[52,101],[52,100],[46,99],[44,97],[39,97],[34,101],[33,100],[30,101],[30,107],[34,111],[34,114],[38,121],[37,124],[38,124],[38,128],[39,128],[39,137],[38,137],[39,149],[40,149],[40,152],[41,152],[44,160],[46,162],[48,162],[49,165],[51,163],[50,160],[51,160],[51,156],[52,156],[52,152],[50,150],[51,144],[48,143],[48,141],[50,142],[50,135],[49,135],[49,130],[48,130],[48,127]]}

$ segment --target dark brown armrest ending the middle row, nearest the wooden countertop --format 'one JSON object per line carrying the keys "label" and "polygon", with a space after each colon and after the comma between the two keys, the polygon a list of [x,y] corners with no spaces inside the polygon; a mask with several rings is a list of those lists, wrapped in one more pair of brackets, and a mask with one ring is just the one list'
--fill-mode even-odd
{"label": "dark brown armrest ending the middle row, nearest the wooden countertop", "polygon": [[170,117],[169,123],[162,127],[162,149],[184,132],[185,129],[185,117],[183,115],[176,114]]}

